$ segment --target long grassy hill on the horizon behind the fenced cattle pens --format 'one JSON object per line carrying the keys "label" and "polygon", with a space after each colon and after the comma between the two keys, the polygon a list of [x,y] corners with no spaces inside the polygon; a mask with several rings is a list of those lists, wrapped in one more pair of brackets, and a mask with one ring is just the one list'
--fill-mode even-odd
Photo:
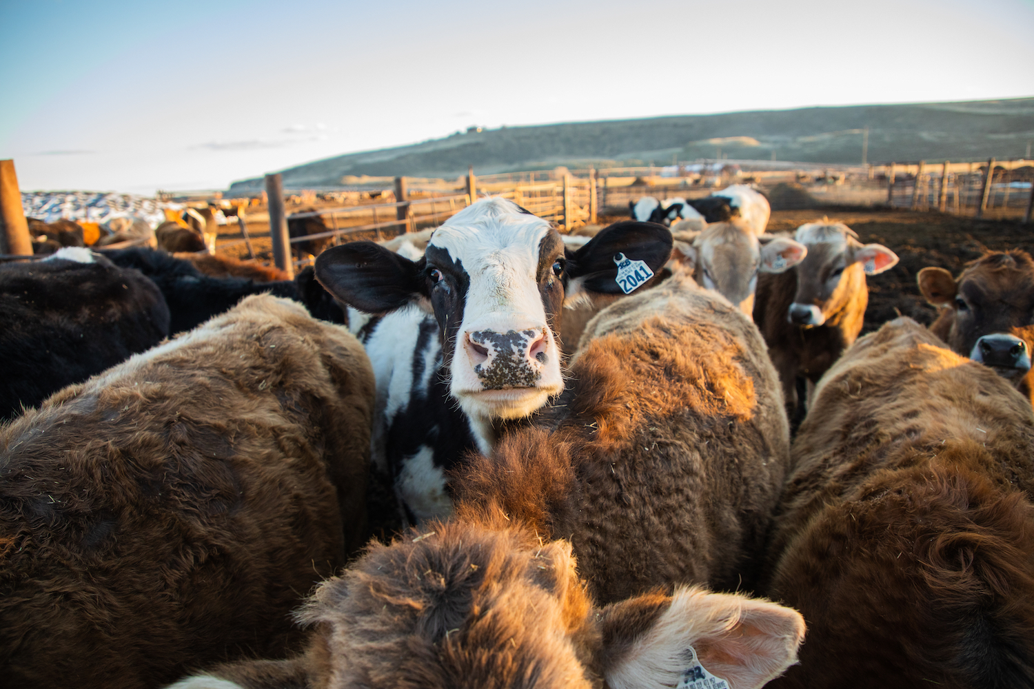
{"label": "long grassy hill on the horizon behind the fenced cattle pens", "polygon": [[[345,176],[454,178],[480,174],[665,164],[721,155],[824,163],[1020,158],[1034,140],[1034,98],[903,105],[803,107],[642,120],[571,122],[455,133],[413,146],[349,153],[281,170],[291,188],[334,187]],[[262,178],[232,191],[263,187]]]}

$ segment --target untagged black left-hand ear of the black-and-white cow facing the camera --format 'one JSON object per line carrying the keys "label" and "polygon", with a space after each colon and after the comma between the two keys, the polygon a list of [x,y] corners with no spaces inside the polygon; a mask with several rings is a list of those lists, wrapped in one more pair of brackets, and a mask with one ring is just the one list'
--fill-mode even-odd
{"label": "untagged black left-hand ear of the black-and-white cow facing the camera", "polygon": [[373,242],[349,242],[316,256],[316,280],[341,302],[366,313],[394,311],[427,296],[424,259],[414,262]]}

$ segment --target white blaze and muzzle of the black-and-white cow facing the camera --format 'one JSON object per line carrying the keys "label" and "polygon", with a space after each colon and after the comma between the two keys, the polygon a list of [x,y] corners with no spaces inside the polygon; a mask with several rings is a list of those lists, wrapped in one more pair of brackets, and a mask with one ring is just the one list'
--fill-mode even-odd
{"label": "white blaze and muzzle of the black-and-white cow facing the camera", "polygon": [[428,245],[429,265],[434,249],[444,249],[469,281],[456,295],[462,319],[448,365],[450,392],[472,417],[526,416],[564,388],[538,279],[541,258],[548,261],[546,284],[559,280],[551,269],[562,255],[558,236],[545,243],[556,256],[540,257],[551,233],[545,220],[492,198],[451,218]]}

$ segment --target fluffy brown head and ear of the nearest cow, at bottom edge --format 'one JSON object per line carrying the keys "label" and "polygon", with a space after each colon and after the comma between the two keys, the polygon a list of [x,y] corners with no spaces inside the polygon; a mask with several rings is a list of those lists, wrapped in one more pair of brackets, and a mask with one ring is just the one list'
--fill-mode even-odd
{"label": "fluffy brown head and ear of the nearest cow, at bottom edge", "polygon": [[385,689],[753,688],[804,632],[793,609],[699,588],[596,607],[567,541],[456,521],[373,542],[300,618],[316,625],[310,678]]}

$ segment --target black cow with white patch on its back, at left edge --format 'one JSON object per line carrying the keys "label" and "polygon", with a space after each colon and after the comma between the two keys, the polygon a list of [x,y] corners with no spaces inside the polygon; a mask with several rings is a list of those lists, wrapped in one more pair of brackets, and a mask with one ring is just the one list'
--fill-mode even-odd
{"label": "black cow with white patch on its back, at left edge", "polygon": [[169,335],[153,282],[86,248],[0,265],[0,420]]}

